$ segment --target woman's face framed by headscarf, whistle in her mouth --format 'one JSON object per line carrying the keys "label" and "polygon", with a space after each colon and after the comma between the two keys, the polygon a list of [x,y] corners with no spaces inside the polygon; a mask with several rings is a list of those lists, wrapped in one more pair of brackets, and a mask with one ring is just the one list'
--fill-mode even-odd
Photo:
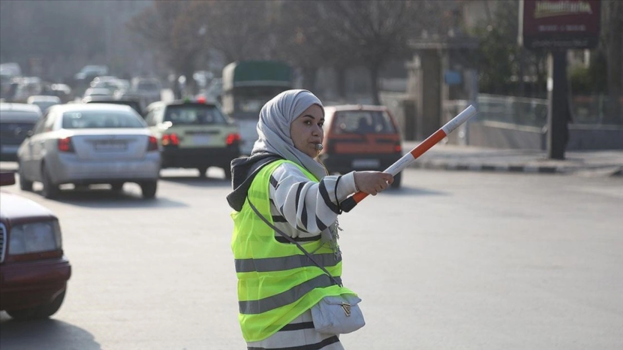
{"label": "woman's face framed by headscarf, whistle in her mouth", "polygon": [[316,158],[320,152],[316,145],[321,144],[325,138],[325,133],[322,130],[323,123],[325,123],[325,115],[320,106],[311,105],[303,111],[290,124],[290,138],[292,138],[295,148],[312,158]]}

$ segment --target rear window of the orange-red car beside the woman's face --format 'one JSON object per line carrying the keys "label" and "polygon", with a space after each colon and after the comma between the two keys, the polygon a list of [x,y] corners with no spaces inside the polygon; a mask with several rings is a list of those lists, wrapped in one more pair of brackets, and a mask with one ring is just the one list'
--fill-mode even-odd
{"label": "rear window of the orange-red car beside the woman's face", "polygon": [[339,111],[335,113],[334,133],[396,133],[384,111]]}

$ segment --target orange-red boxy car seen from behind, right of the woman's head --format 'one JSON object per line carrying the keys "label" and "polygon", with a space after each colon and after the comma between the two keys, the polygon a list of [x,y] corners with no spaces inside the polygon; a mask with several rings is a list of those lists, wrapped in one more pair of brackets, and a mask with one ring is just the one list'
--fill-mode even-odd
{"label": "orange-red boxy car seen from behind, right of the woman's head", "polygon": [[[384,171],[402,156],[396,120],[385,106],[325,106],[325,140],[320,159],[330,173]],[[401,174],[392,187],[400,187]]]}

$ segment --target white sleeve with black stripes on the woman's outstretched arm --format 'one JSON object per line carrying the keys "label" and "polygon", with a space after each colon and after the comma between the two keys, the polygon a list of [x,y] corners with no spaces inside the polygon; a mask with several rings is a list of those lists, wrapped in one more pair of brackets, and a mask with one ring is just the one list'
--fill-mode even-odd
{"label": "white sleeve with black stripes on the woman's outstretched arm", "polygon": [[341,176],[339,183],[338,176],[315,182],[292,163],[283,163],[273,171],[269,187],[274,208],[297,229],[291,231],[293,238],[320,234],[337,219],[338,201],[356,192],[354,172]]}

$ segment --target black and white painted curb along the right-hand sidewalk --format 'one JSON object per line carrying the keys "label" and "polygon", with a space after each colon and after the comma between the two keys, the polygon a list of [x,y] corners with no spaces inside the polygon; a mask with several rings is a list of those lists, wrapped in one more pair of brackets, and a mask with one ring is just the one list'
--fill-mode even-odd
{"label": "black and white painted curb along the right-hand sidewalk", "polygon": [[436,169],[450,171],[480,171],[486,173],[533,173],[533,174],[569,174],[579,171],[598,171],[610,170],[611,176],[622,176],[623,167],[600,166],[596,168],[571,168],[568,166],[526,166],[521,164],[474,164],[474,163],[452,163],[445,161],[415,161],[411,168]]}

